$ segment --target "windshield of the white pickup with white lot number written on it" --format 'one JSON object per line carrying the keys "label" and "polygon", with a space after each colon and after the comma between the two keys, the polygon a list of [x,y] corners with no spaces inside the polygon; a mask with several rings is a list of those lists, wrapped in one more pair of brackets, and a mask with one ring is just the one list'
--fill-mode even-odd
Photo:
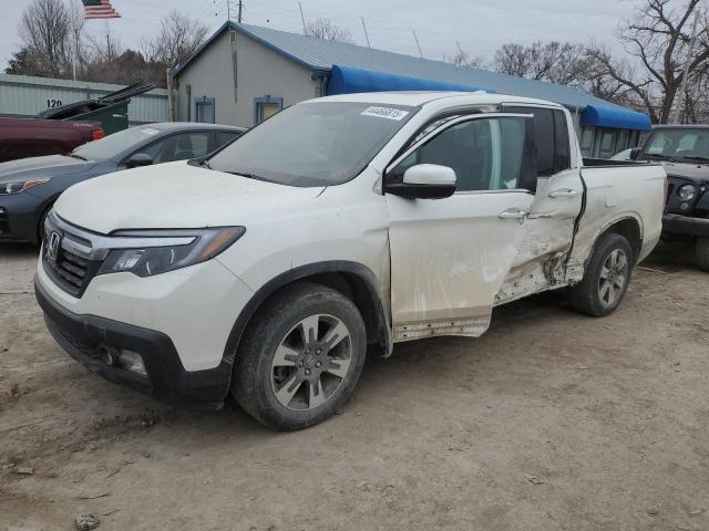
{"label": "windshield of the white pickup with white lot number written on it", "polygon": [[360,174],[415,111],[352,102],[294,105],[239,137],[208,165],[282,185],[339,185]]}

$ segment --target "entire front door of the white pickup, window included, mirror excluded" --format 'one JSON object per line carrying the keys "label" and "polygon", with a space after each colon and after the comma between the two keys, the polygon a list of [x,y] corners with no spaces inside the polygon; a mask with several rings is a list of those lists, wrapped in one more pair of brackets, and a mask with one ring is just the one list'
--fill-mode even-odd
{"label": "entire front door of the white pickup, window included, mirror excluded", "polygon": [[444,199],[386,194],[394,341],[487,330],[534,200],[523,188],[533,188],[536,168],[530,125],[527,115],[460,116],[390,165],[384,190],[418,164],[456,175],[456,191]]}

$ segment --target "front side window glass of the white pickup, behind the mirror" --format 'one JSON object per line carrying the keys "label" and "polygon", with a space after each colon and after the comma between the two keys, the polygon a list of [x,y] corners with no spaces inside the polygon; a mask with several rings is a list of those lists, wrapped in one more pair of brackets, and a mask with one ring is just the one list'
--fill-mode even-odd
{"label": "front side window glass of the white pickup, behind the mirror", "polygon": [[522,173],[525,121],[518,117],[479,118],[453,125],[400,162],[387,179],[401,183],[417,164],[453,168],[458,191],[516,188]]}

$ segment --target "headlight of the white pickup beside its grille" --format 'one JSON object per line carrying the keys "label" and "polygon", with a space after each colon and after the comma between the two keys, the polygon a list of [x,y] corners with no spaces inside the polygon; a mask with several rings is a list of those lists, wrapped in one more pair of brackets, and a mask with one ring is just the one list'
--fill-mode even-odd
{"label": "headlight of the white pickup beside its grille", "polygon": [[[245,227],[220,227],[202,230],[122,231],[116,237],[145,238],[146,244],[135,249],[109,252],[97,274],[127,271],[138,277],[152,277],[213,259],[246,232]],[[179,246],[161,246],[161,238],[193,237]]]}

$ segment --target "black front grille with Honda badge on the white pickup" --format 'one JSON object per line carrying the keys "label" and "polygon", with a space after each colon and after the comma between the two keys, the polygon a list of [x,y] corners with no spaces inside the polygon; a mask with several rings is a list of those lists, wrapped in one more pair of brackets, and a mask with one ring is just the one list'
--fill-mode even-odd
{"label": "black front grille with Honda badge on the white pickup", "polygon": [[[52,238],[56,239],[54,249],[52,249]],[[71,242],[91,246],[91,242],[83,238],[72,235],[69,230],[62,230],[48,221],[42,246],[42,263],[56,285],[69,294],[81,298],[91,280],[99,272],[102,261],[82,257],[72,250],[74,246],[66,244]]]}

